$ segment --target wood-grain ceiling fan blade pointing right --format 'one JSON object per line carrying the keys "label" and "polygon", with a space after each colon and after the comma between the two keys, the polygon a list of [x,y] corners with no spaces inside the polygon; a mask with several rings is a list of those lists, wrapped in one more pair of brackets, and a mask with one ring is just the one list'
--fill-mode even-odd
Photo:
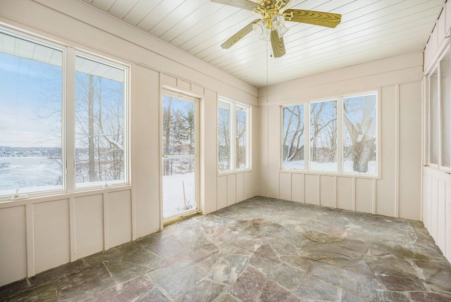
{"label": "wood-grain ceiling fan blade pointing right", "polygon": [[[290,14],[293,16],[290,18]],[[304,11],[302,9],[287,9],[283,13],[285,20],[320,25],[335,28],[341,22],[341,15],[338,13],[323,13],[321,11]]]}

